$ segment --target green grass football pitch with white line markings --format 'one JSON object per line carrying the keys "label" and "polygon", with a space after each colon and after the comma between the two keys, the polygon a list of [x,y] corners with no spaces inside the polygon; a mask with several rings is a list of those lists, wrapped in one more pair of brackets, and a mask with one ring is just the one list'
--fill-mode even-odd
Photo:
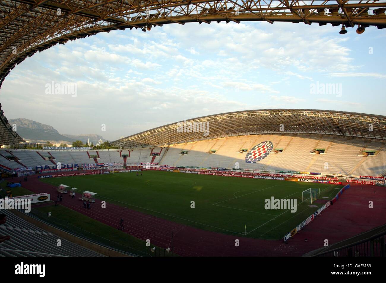
{"label": "green grass football pitch with white line markings", "polygon": [[[302,203],[302,191],[319,188],[321,199],[331,199],[337,188],[342,188],[332,184],[166,171],[142,171],[142,176],[128,172],[49,178],[42,182],[76,187],[78,193],[92,191],[98,199],[188,226],[261,239],[283,238],[317,210],[309,202]],[[272,196],[296,198],[296,213],[266,210],[264,200]],[[191,208],[191,201],[195,201],[195,208]]]}

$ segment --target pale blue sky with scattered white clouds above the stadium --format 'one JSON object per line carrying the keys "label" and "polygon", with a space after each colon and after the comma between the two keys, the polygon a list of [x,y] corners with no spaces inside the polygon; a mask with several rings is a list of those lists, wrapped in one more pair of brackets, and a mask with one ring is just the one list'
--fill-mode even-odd
{"label": "pale blue sky with scattered white clouds above the stadium", "polygon": [[[8,119],[110,141],[249,109],[386,115],[386,30],[339,30],[230,22],[99,33],[25,59],[3,82],[0,102]],[[76,96],[49,93],[52,82],[76,85]]]}

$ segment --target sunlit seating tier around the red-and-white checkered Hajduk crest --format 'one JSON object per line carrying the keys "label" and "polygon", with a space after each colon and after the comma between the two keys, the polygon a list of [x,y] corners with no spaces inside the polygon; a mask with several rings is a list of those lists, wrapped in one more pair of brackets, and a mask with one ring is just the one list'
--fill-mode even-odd
{"label": "sunlit seating tier around the red-and-white checkered Hajduk crest", "polygon": [[[240,144],[243,149],[250,150],[253,146],[267,140],[273,141],[274,149],[283,148],[284,151],[278,154],[271,152],[258,163],[245,163],[247,153],[239,152]],[[228,137],[169,146],[161,165],[234,168],[235,162],[239,162],[242,169],[381,176],[386,169],[386,151],[382,143],[369,142],[369,144],[373,143],[376,155],[364,157],[358,156],[364,145],[364,140],[359,139],[336,137],[331,144],[331,137],[320,139],[300,134]],[[326,149],[324,154],[312,153],[318,145]],[[217,151],[214,154],[208,153],[210,149],[215,148]],[[184,150],[188,151],[188,154],[180,154]],[[325,162],[328,163],[326,168]]]}

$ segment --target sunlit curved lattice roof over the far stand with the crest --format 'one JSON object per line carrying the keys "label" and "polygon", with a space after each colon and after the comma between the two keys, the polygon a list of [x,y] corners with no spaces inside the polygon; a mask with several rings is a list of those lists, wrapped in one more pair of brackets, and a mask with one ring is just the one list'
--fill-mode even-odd
{"label": "sunlit curved lattice roof over the far stand with the crest", "polygon": [[[205,132],[206,127],[200,128],[203,123],[208,126],[208,134]],[[198,125],[198,132],[191,132],[188,128],[190,124],[192,131],[194,128],[197,129]],[[168,124],[119,139],[112,144],[118,147],[163,146],[228,136],[293,133],[351,136],[386,141],[386,116],[312,109],[238,111]]]}

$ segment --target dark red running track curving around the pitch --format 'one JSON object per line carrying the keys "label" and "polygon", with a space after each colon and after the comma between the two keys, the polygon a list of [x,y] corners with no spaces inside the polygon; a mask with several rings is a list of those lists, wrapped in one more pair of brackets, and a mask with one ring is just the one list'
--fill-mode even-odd
{"label": "dark red running track curving around the pitch", "polygon": [[[55,187],[39,182],[37,176],[29,176],[22,186],[35,193],[51,193],[53,200],[58,194]],[[368,207],[370,200],[374,208]],[[300,256],[322,247],[325,239],[333,244],[386,223],[386,189],[359,184],[351,184],[334,205],[303,227],[287,244],[282,240],[251,239],[196,229],[112,203],[102,208],[100,200],[91,204],[91,209],[84,209],[79,195],[74,199],[64,195],[61,204],[114,228],[118,228],[123,218],[125,233],[142,240],[150,239],[162,248],[171,247],[173,231],[174,253],[181,256]],[[240,240],[240,246],[235,246],[235,239]]]}

